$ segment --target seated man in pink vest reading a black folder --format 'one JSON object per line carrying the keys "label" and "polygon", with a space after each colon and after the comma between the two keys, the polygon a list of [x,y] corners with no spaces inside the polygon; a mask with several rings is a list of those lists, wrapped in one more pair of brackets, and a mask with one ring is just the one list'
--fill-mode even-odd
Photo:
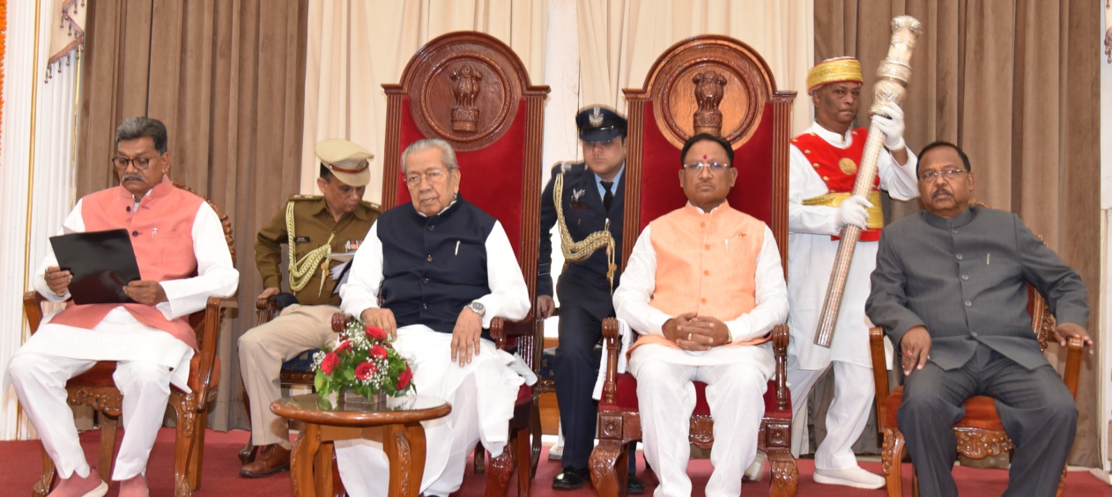
{"label": "seated man in pink vest reading a black folder", "polygon": [[[132,118],[116,130],[111,160],[120,185],[86,195],[62,223],[66,233],[125,229],[142,280],[129,282],[123,304],[75,304],[48,318],[9,363],[7,379],[61,480],[50,496],[99,497],[108,491],[78,440],[66,382],[97,361],[117,361],[112,379],[123,394],[123,440],[111,478],[125,497],[148,494],[147,458],[162,426],[170,385],[186,384],[196,336],[186,317],[209,296],[231,295],[239,283],[224,227],[205,199],[175,187],[167,173],[166,126]],[[72,274],[48,247],[33,278],[51,302],[70,297]]]}

